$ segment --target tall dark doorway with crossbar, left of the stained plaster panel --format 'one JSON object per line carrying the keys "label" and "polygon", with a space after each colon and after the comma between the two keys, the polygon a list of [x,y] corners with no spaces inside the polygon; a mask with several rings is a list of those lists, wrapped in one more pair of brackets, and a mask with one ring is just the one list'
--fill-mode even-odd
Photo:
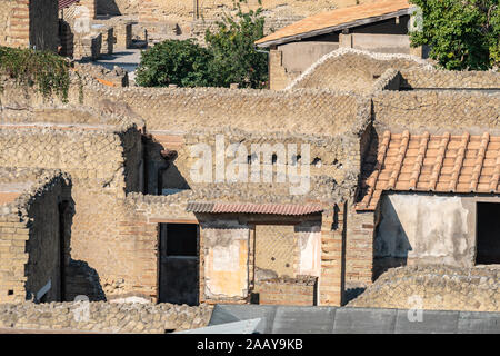
{"label": "tall dark doorway with crossbar, left of the stained plaster panel", "polygon": [[160,224],[160,303],[198,305],[199,226]]}

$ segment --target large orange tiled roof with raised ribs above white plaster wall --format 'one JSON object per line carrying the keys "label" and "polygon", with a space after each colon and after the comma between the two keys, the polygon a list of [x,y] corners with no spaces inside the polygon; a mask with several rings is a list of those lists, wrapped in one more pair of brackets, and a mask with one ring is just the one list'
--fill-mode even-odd
{"label": "large orange tiled roof with raised ribs above white plaster wall", "polygon": [[384,190],[500,194],[500,137],[386,131],[358,210],[374,210]]}

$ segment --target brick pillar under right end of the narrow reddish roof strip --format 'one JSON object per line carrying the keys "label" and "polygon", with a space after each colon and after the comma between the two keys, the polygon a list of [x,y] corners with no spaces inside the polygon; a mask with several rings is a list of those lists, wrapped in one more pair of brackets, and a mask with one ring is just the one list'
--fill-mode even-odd
{"label": "brick pillar under right end of the narrow reddish roof strip", "polygon": [[341,306],[344,286],[344,210],[334,206],[321,219],[321,278],[319,305]]}

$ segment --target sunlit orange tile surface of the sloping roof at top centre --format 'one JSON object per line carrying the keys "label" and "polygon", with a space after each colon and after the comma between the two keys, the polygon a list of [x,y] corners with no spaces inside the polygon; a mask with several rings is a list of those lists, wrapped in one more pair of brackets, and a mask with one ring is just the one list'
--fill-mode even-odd
{"label": "sunlit orange tile surface of the sloping roof at top centre", "polygon": [[274,33],[271,33],[256,41],[256,43],[268,44],[267,42],[273,42],[287,38],[291,38],[290,40],[293,40],[293,37],[301,34],[302,37],[308,37],[303,34],[323,29],[331,29],[332,31],[340,30],[341,28],[337,29],[337,27],[344,26],[343,28],[349,28],[349,24],[351,24],[351,22],[358,20],[381,17],[401,10],[408,10],[410,8],[412,8],[412,6],[408,2],[408,0],[392,0],[337,9],[333,11],[311,16],[301,21],[287,26],[276,31]]}

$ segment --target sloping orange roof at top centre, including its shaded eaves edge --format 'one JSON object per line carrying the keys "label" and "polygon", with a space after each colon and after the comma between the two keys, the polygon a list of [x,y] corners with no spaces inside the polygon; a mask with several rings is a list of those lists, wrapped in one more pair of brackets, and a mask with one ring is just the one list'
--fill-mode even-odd
{"label": "sloping orange roof at top centre, including its shaded eaves edge", "polygon": [[378,1],[311,16],[287,26],[258,41],[259,47],[281,44],[308,37],[340,31],[347,28],[410,14],[413,6],[408,0]]}

